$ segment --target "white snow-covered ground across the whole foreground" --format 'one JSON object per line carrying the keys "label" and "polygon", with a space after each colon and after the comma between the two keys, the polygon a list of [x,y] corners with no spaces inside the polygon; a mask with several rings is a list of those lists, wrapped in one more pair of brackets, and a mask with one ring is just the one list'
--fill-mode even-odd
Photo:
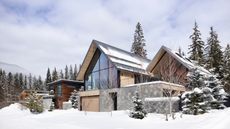
{"label": "white snow-covered ground across the whole foreground", "polygon": [[74,109],[31,114],[12,104],[0,110],[0,129],[230,129],[230,108],[204,115],[176,115],[165,121],[162,114],[143,120],[128,117],[127,111],[81,112]]}

